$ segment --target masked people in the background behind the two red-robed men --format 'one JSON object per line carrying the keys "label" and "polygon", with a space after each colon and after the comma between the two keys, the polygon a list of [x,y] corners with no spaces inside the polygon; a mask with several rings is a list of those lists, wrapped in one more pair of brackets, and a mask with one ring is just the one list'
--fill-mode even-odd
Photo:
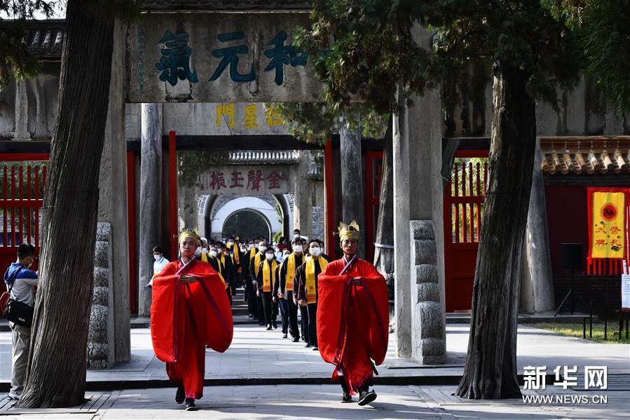
{"label": "masked people in the background behind the two red-robed men", "polygon": [[[301,339],[306,347],[318,349],[317,276],[331,261],[323,241],[303,238],[295,229],[290,241],[280,238],[271,246],[263,236],[222,241],[200,237],[196,245],[195,256],[219,273],[230,302],[242,287],[249,318],[266,330],[277,330],[280,317],[282,338]],[[153,257],[158,275],[169,261],[160,246],[153,248]]]}

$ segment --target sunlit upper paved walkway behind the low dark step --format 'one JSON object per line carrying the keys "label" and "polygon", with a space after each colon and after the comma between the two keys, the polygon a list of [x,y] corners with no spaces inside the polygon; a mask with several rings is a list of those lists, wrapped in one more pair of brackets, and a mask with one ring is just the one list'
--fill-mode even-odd
{"label": "sunlit upper paved walkway behind the low dark step", "polygon": [[[458,384],[463,372],[469,325],[448,324],[445,365],[422,366],[413,360],[395,357],[395,334],[378,380],[383,384]],[[132,329],[132,360],[106,370],[88,371],[90,389],[146,388],[167,380],[164,363],[156,359],[148,329]],[[557,365],[608,366],[609,374],[630,374],[630,346],[597,344],[573,337],[519,325],[517,338],[519,373],[523,367]],[[11,381],[11,333],[0,332],[0,392]],[[206,352],[207,384],[327,384],[331,365],[319,352],[303,343],[282,339],[280,330],[266,331],[258,325],[235,325],[234,339],[226,353]],[[153,381],[153,384],[149,384]],[[122,383],[125,384],[116,384]]]}

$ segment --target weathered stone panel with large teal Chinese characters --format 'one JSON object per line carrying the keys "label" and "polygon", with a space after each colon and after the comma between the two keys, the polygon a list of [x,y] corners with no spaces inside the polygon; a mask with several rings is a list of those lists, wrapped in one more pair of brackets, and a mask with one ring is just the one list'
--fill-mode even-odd
{"label": "weathered stone panel with large teal Chinese characters", "polygon": [[[128,26],[127,102],[319,102],[308,13],[148,13]],[[323,53],[323,52],[322,52]]]}

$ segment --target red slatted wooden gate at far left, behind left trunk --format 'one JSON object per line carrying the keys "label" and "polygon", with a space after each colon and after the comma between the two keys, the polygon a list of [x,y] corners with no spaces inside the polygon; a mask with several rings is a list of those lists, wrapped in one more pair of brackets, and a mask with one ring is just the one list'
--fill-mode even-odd
{"label": "red slatted wooden gate at far left, behind left trunk", "polygon": [[[39,255],[40,212],[48,154],[0,155],[0,270],[15,262],[18,246],[30,243]],[[36,269],[36,267],[34,267]],[[6,290],[0,282],[0,290]]]}

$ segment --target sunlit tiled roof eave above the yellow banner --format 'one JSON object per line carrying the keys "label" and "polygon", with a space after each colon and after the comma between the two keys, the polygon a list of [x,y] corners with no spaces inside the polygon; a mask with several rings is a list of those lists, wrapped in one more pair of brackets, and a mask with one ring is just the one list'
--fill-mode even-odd
{"label": "sunlit tiled roof eave above the yellow banner", "polygon": [[630,136],[541,137],[541,169],[551,175],[630,172]]}

